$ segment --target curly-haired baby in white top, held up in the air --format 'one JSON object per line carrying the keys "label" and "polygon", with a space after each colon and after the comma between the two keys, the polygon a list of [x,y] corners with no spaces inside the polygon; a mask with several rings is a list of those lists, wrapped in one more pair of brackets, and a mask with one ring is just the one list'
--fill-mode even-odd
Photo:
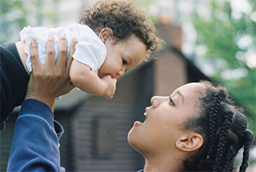
{"label": "curly-haired baby in white top, held up in the air", "polygon": [[[48,35],[54,36],[55,52],[58,52],[59,34],[65,35],[68,46],[70,46],[70,40],[76,37],[78,44],[75,46],[74,61],[70,67],[70,80],[84,92],[112,98],[116,79],[127,69],[139,65],[146,54],[156,51],[161,43],[155,36],[154,25],[151,25],[147,19],[146,13],[135,9],[134,3],[97,2],[93,8],[82,10],[78,24],[55,29],[30,26],[22,29],[20,33],[22,41],[15,43],[18,55],[12,53],[17,50],[11,45],[2,45],[1,48],[2,52],[6,50],[10,53],[9,56],[14,56],[16,58],[14,61],[17,61],[17,56],[20,57],[27,75],[32,71],[30,41],[35,39],[38,42],[38,56],[44,64]],[[58,53],[55,59],[57,56]],[[11,60],[8,59],[8,61]],[[2,66],[1,72],[4,71]],[[16,75],[20,74],[20,72],[16,73]],[[15,106],[22,104],[26,93],[20,90],[24,87],[17,84],[17,80],[11,80],[6,81],[1,78],[1,86],[4,85],[3,82],[10,82],[8,85],[12,93],[12,96],[8,96],[5,89],[1,88],[1,123]],[[27,84],[27,79],[25,83]],[[22,94],[24,96],[20,96],[17,100],[14,98],[15,92],[24,92]]]}

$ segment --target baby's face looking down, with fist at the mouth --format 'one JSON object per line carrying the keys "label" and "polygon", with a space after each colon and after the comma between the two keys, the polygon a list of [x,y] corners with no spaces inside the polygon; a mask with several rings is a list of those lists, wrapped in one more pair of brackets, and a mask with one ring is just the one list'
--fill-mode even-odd
{"label": "baby's face looking down, with fist at the mouth", "polygon": [[110,75],[113,78],[122,76],[127,69],[134,68],[142,63],[146,56],[146,45],[135,35],[127,41],[113,44],[113,39],[105,42],[107,55],[106,61],[98,69],[98,76]]}

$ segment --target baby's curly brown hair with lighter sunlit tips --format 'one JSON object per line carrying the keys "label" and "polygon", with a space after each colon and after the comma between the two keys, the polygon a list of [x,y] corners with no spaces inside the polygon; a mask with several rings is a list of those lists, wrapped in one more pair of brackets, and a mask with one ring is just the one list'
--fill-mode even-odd
{"label": "baby's curly brown hair with lighter sunlit tips", "polygon": [[146,45],[148,60],[149,53],[163,45],[163,41],[156,37],[156,29],[146,12],[136,9],[134,2],[99,1],[92,8],[82,10],[79,23],[88,25],[97,34],[104,28],[110,28],[116,41],[126,41],[134,34]]}

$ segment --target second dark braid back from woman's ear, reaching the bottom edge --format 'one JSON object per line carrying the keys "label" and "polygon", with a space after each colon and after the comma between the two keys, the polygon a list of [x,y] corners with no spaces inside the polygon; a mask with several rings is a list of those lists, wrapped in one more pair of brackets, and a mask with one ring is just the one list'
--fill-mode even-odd
{"label": "second dark braid back from woman's ear, reaching the bottom edge", "polygon": [[219,135],[219,143],[217,146],[217,154],[214,161],[214,172],[219,170],[219,163],[222,161],[223,158],[223,150],[225,147],[225,141],[226,141],[226,135],[228,134],[228,130],[230,127],[230,124],[232,123],[232,117],[234,113],[232,111],[227,111],[225,115],[225,120],[222,124],[222,128]]}

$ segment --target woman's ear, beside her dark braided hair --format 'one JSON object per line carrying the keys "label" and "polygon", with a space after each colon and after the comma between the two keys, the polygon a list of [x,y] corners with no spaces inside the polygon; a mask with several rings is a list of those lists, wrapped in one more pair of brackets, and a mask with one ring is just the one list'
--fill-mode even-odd
{"label": "woman's ear, beside her dark braided hair", "polygon": [[202,147],[202,144],[202,135],[199,135],[198,133],[182,135],[176,141],[176,147],[181,151],[195,151]]}

